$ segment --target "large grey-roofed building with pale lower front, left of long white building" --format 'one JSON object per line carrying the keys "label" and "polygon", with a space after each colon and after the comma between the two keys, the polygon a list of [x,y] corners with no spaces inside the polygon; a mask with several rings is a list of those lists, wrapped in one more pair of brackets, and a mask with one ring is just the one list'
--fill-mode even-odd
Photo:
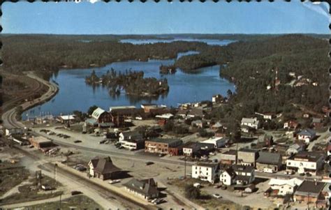
{"label": "large grey-roofed building with pale lower front, left of long white building", "polygon": [[256,160],[256,169],[263,172],[278,172],[281,168],[281,154],[260,151]]}

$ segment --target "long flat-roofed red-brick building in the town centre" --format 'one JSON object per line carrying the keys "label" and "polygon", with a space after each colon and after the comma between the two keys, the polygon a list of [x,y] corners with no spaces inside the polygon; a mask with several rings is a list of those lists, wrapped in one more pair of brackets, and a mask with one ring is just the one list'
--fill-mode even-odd
{"label": "long flat-roofed red-brick building in the town centre", "polygon": [[182,153],[182,140],[155,138],[145,141],[145,152],[178,156]]}

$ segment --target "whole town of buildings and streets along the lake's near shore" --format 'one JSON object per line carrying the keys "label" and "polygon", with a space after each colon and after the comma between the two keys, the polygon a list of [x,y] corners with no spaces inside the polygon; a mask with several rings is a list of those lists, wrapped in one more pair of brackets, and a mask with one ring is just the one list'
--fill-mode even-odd
{"label": "whole town of buildings and streets along the lake's near shore", "polygon": [[[22,128],[5,128],[2,145],[8,142],[80,179],[161,208],[196,207],[203,196],[215,207],[229,202],[253,208],[328,208],[328,108],[321,110],[322,118],[304,113],[282,121],[277,130],[262,125],[279,123],[281,114],[256,112],[242,118],[235,140],[228,137],[226,123],[207,117],[226,103],[216,95],[177,108],[94,106],[87,113],[41,114],[22,121]],[[309,127],[302,127],[303,121]],[[170,189],[181,193],[173,195]]]}

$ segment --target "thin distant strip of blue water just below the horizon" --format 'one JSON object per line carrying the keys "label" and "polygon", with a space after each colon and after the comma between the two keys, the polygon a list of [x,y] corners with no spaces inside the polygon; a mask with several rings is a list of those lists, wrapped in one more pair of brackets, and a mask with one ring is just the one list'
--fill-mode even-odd
{"label": "thin distant strip of blue water just below the horizon", "polygon": [[228,45],[236,40],[217,40],[217,39],[197,39],[197,38],[174,38],[174,39],[122,39],[121,43],[131,43],[133,45],[154,44],[154,43],[172,43],[175,41],[201,42],[207,45]]}

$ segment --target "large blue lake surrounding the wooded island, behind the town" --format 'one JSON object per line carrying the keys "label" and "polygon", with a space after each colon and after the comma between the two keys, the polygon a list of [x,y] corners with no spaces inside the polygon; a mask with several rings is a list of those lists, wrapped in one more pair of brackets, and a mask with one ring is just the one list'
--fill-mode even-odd
{"label": "large blue lake surrounding the wooded island, behind the town", "polygon": [[[183,52],[177,55],[177,59],[187,54],[198,54],[198,52]],[[36,117],[45,114],[71,114],[74,110],[87,112],[92,105],[98,105],[104,110],[110,106],[135,105],[140,107],[142,103],[156,103],[177,107],[179,103],[191,103],[201,100],[212,100],[212,96],[220,93],[226,96],[228,89],[235,91],[235,85],[228,80],[219,77],[220,66],[200,68],[195,73],[184,73],[177,69],[174,75],[160,75],[159,66],[170,65],[175,59],[149,61],[122,61],[111,63],[98,68],[77,68],[72,70],[59,70],[50,80],[59,84],[59,92],[54,98],[23,112],[22,119]],[[101,76],[114,68],[117,71],[125,72],[128,69],[142,70],[144,77],[167,78],[170,87],[169,92],[164,96],[156,98],[136,98],[127,96],[124,92],[119,96],[110,96],[108,89],[92,87],[85,83],[84,79],[95,70],[96,75]]]}

